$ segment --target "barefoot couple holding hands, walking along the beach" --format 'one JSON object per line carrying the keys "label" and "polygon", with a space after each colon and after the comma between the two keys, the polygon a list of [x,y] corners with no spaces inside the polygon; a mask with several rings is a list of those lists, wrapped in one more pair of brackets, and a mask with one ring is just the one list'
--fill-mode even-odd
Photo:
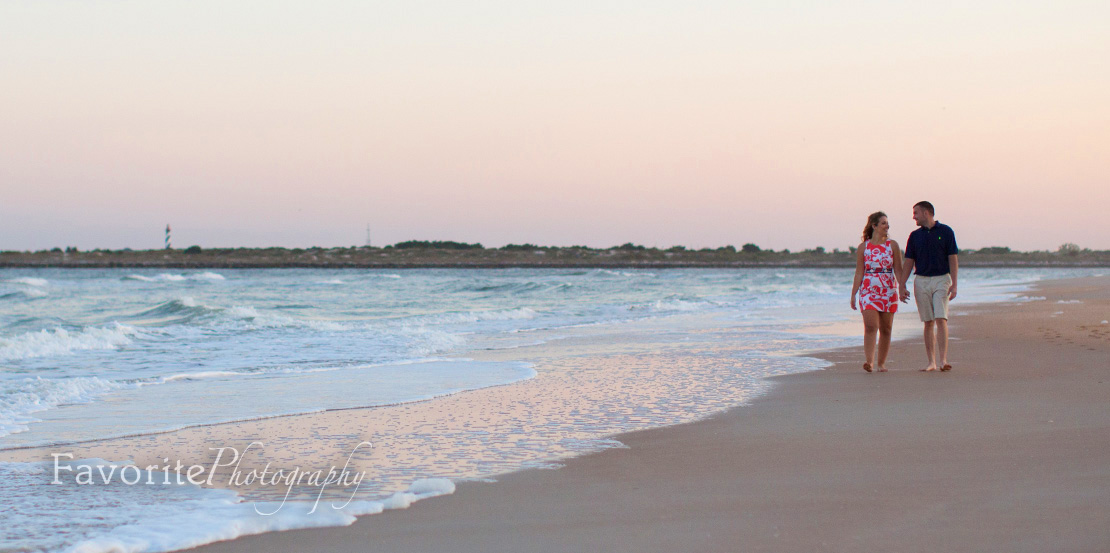
{"label": "barefoot couple holding hands, walking along the beach", "polygon": [[[906,281],[915,268],[914,296],[917,311],[925,323],[925,352],[929,364],[922,371],[949,371],[948,363],[948,302],[956,299],[957,261],[956,234],[951,227],[936,219],[929,202],[914,204],[914,221],[918,229],[906,241],[902,259],[898,242],[890,240],[887,214],[877,211],[867,218],[864,241],[856,250],[856,278],[851,284],[851,309],[864,313],[864,370],[876,369],[875,346],[878,335],[878,371],[887,371],[887,352],[890,351],[890,330],[895,322],[898,302],[909,300]],[[939,358],[939,363],[938,363]]]}

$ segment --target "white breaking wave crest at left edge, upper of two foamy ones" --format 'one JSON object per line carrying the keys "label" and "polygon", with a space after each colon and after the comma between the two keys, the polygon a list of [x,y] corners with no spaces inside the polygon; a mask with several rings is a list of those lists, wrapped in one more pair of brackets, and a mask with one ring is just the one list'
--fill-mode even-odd
{"label": "white breaking wave crest at left edge, upper of two foamy ones", "polygon": [[69,331],[62,328],[0,338],[0,360],[64,355],[78,350],[114,350],[139,334],[133,326],[112,323]]}

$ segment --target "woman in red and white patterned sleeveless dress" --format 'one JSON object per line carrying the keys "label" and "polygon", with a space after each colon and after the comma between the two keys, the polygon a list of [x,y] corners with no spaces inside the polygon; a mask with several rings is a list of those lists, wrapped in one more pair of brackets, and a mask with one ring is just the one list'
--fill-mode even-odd
{"label": "woman in red and white patterned sleeveless dress", "polygon": [[879,372],[887,372],[890,329],[898,311],[898,282],[901,276],[901,250],[889,238],[887,214],[876,211],[867,218],[864,241],[856,249],[856,279],[851,283],[851,309],[864,312],[864,370],[875,366],[875,334],[879,334]]}

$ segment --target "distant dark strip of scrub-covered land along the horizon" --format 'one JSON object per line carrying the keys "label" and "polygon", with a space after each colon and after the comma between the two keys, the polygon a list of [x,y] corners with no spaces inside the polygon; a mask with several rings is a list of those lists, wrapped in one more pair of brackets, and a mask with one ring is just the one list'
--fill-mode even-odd
{"label": "distant dark strip of scrub-covered land along the horizon", "polygon": [[[833,269],[854,268],[855,253],[768,250],[658,250],[516,247],[93,250],[0,252],[0,268],[70,269]],[[1110,268],[1110,251],[960,253],[970,268]]]}

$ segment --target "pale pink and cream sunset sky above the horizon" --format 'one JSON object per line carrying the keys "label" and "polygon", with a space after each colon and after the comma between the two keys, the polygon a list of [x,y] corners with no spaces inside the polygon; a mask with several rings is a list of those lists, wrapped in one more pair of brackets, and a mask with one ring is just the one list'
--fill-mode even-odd
{"label": "pale pink and cream sunset sky above the horizon", "polygon": [[0,250],[1106,250],[1107,99],[1104,0],[11,0]]}

